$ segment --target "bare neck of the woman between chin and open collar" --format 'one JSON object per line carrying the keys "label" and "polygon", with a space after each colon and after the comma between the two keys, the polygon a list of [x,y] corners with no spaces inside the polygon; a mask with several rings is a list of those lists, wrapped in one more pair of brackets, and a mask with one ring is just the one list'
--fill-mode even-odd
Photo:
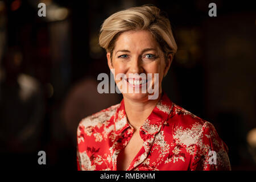
{"label": "bare neck of the woman between chin and open collar", "polygon": [[143,102],[123,97],[127,119],[130,125],[134,127],[135,131],[143,125],[144,121],[146,121],[156,104],[158,104],[161,96],[162,93],[159,94],[159,97],[156,100],[146,100]]}

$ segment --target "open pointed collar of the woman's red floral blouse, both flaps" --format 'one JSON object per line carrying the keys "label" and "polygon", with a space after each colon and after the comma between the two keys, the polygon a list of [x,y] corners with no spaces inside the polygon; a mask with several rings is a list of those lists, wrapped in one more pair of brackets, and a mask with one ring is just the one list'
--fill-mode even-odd
{"label": "open pointed collar of the woman's red floral blouse, both flaps", "polygon": [[[165,92],[162,93],[158,104],[152,110],[146,121],[141,126],[141,133],[155,135],[161,129],[164,121],[167,121],[168,115],[172,110],[172,101],[168,98]],[[121,101],[120,106],[115,113],[114,128],[115,133],[122,133],[127,127],[130,127],[126,113],[124,101]]]}

